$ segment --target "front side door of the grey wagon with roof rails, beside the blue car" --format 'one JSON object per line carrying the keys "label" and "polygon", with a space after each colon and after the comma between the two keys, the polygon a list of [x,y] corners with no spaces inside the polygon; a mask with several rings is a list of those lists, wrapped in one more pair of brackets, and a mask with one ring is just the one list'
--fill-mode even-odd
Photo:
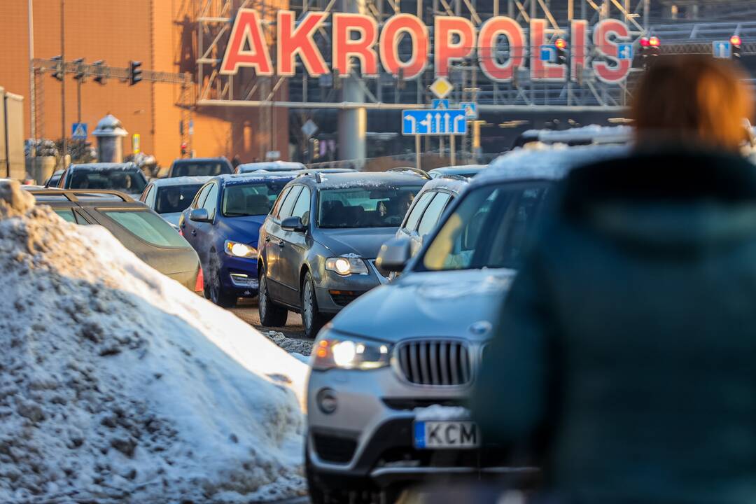
{"label": "front side door of the grey wagon with roof rails, beside the blue car", "polygon": [[[311,208],[310,188],[303,186],[291,210],[291,217],[299,217],[309,227]],[[299,306],[299,271],[307,254],[307,231],[281,230],[279,251],[280,279],[285,295],[284,301]]]}

